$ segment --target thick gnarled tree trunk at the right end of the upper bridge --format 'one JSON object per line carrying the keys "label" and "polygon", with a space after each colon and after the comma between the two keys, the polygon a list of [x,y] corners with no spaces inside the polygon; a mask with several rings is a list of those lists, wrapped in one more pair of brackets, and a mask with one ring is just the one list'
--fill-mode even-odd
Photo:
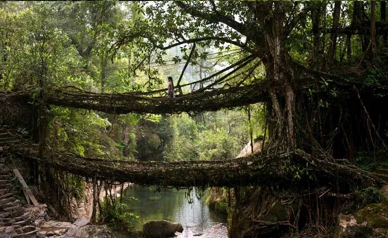
{"label": "thick gnarled tree trunk at the right end of the upper bridge", "polygon": [[[285,140],[288,148],[295,147],[295,93],[293,88],[294,70],[285,49],[284,20],[288,3],[276,2],[274,17],[264,19],[265,40],[270,49],[270,56],[266,66],[267,78],[271,80],[268,90],[271,105],[277,120],[277,140]],[[281,103],[282,100],[284,103]],[[283,114],[284,112],[284,114]]]}

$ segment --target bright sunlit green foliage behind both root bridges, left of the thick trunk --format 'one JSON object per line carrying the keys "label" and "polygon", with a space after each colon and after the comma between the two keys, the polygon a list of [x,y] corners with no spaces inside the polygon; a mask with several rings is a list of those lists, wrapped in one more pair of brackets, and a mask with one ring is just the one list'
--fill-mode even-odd
{"label": "bright sunlit green foliage behind both root bridges, left of the thick trunk", "polygon": [[[244,14],[243,6],[227,2],[218,5],[221,13]],[[164,46],[171,37],[186,33],[189,37],[216,33],[218,37],[242,40],[234,30],[203,19],[193,20],[179,12],[172,2],[2,3],[0,90],[32,87],[38,92],[74,86],[92,92],[124,93],[161,89],[167,76],[177,79],[182,70],[182,66],[163,65],[187,60],[192,45],[168,51],[157,50],[156,46]],[[114,45],[128,35],[133,37],[124,45]],[[218,53],[218,49],[230,52]],[[195,60],[191,60],[181,84],[196,80],[199,73],[206,77],[245,57],[238,49],[218,41],[199,42],[193,52]],[[169,59],[172,61],[167,62]],[[257,77],[264,75],[261,66],[253,72]],[[229,83],[236,83],[241,77]],[[250,82],[255,77],[245,80]],[[156,124],[150,127],[132,114],[113,117],[52,106],[48,112],[47,143],[67,153],[100,158],[233,158],[249,140],[250,128],[254,138],[263,135],[262,105],[251,106],[251,111],[250,123],[246,111],[241,110],[205,113],[195,118],[186,114],[149,116],[147,121]],[[20,132],[24,133],[23,128]]]}

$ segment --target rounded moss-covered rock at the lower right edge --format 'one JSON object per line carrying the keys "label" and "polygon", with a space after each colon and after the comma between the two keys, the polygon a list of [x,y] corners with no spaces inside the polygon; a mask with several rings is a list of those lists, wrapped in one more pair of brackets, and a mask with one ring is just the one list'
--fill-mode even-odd
{"label": "rounded moss-covered rock at the lower right edge", "polygon": [[388,207],[373,203],[358,211],[357,223],[367,222],[373,228],[388,228]]}

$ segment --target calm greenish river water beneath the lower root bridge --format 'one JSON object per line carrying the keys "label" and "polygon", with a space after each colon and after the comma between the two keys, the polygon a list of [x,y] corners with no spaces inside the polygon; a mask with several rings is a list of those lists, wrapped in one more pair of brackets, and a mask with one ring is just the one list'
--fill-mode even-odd
{"label": "calm greenish river water beneath the lower root bridge", "polygon": [[[132,185],[128,188],[124,202],[128,210],[139,215],[136,229],[142,230],[143,224],[150,220],[166,220],[179,222],[183,226],[183,233],[179,238],[227,238],[226,215],[209,210],[205,204],[208,190],[198,199],[196,189],[190,192],[190,203],[186,198],[186,190],[163,189],[155,192],[155,187]],[[136,200],[131,199],[131,197]],[[196,236],[194,236],[196,235]]]}

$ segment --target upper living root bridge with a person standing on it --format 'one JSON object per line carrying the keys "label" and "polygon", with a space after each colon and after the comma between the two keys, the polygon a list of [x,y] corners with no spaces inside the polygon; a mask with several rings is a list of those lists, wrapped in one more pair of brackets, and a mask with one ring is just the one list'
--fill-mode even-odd
{"label": "upper living root bridge with a person standing on it", "polygon": [[176,98],[146,97],[138,93],[102,94],[74,90],[46,93],[45,97],[49,104],[106,113],[164,114],[217,111],[223,108],[243,106],[264,101],[264,92],[262,84],[252,84],[195,92]]}

